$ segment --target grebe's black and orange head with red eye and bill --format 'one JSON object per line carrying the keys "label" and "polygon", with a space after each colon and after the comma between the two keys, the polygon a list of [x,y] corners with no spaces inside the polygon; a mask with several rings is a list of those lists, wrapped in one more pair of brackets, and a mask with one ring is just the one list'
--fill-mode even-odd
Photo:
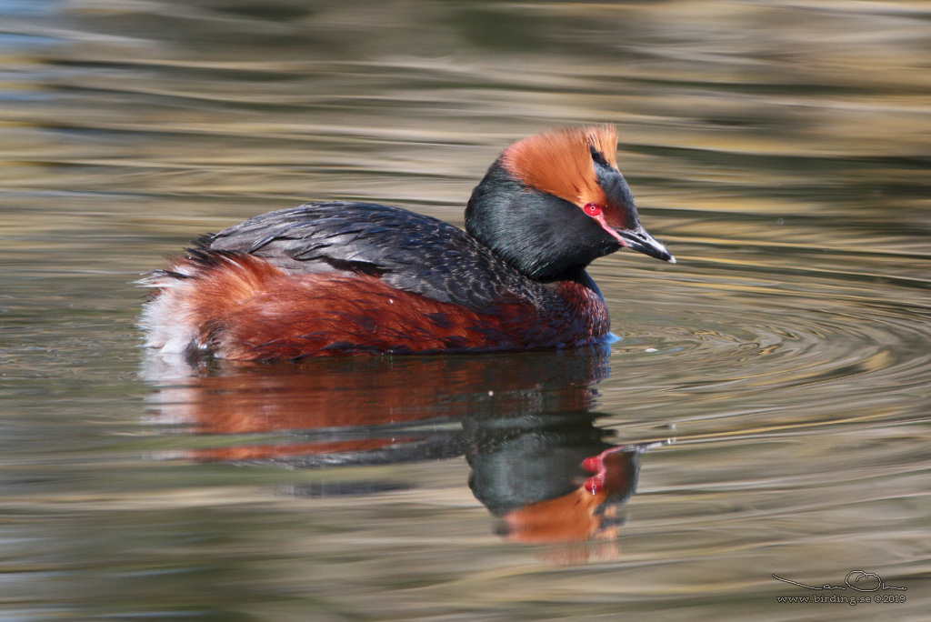
{"label": "grebe's black and orange head with red eye and bill", "polygon": [[556,129],[507,147],[472,192],[466,230],[528,277],[576,277],[615,250],[675,263],[646,232],[617,169],[613,126]]}

